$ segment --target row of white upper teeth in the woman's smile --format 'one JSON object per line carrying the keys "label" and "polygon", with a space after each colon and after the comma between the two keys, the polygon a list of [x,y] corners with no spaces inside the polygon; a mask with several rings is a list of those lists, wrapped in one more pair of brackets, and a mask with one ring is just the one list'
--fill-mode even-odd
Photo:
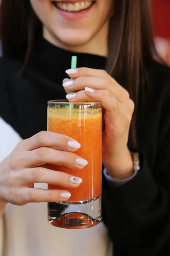
{"label": "row of white upper teeth in the woman's smile", "polygon": [[83,1],[76,3],[63,3],[58,1],[52,2],[55,7],[65,12],[82,12],[91,8],[94,5],[95,1]]}

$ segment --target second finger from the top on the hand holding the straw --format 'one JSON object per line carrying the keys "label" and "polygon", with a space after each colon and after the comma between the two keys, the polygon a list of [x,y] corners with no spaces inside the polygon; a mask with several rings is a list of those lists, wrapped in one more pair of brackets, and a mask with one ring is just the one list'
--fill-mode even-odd
{"label": "second finger from the top on the hand holding the straw", "polygon": [[[127,93],[124,92],[121,86],[117,86],[116,81],[111,81],[109,77],[86,77],[81,76],[74,81],[66,81],[63,83],[63,87],[66,93],[70,91],[77,92],[79,90],[84,90],[85,87],[93,88],[94,90],[109,90],[119,102],[125,102],[127,98]],[[126,91],[127,92],[127,91]]]}

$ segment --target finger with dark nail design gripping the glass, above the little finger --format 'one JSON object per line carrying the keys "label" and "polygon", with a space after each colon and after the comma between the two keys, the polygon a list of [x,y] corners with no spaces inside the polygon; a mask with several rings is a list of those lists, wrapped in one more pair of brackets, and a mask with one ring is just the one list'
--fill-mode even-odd
{"label": "finger with dark nail design gripping the glass, above the little finger", "polygon": [[[16,175],[15,175],[16,176]],[[65,172],[57,172],[43,167],[31,168],[17,172],[14,180],[19,180],[21,183],[48,183],[53,185],[65,186],[67,188],[78,187],[82,183],[80,177],[69,175]]]}

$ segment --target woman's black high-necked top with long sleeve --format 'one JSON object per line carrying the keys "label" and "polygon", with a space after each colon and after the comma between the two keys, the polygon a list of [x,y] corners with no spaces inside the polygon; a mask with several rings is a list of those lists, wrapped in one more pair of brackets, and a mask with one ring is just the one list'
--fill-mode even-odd
{"label": "woman's black high-necked top with long sleeve", "polygon": [[[0,116],[23,139],[46,130],[48,100],[65,98],[62,80],[72,55],[41,39],[21,76],[22,61],[0,59]],[[77,56],[78,67],[105,67],[104,57]],[[167,256],[166,249],[170,251],[170,69],[154,61],[146,66],[153,92],[138,110],[143,166],[136,177],[116,188],[103,177],[102,218],[116,256]]]}

